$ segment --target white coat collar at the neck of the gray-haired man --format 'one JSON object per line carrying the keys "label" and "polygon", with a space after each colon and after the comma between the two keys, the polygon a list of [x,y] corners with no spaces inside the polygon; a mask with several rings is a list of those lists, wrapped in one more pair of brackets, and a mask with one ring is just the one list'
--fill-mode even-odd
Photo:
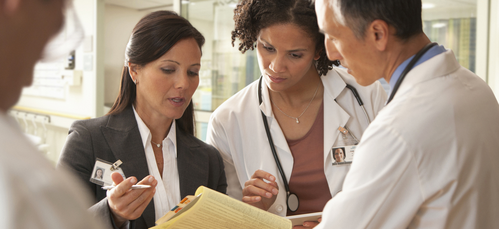
{"label": "white coat collar at the neck of the gray-haired man", "polygon": [[400,98],[408,92],[414,84],[448,75],[458,70],[460,66],[454,52],[451,49],[447,49],[447,51],[430,58],[409,71],[393,99]]}

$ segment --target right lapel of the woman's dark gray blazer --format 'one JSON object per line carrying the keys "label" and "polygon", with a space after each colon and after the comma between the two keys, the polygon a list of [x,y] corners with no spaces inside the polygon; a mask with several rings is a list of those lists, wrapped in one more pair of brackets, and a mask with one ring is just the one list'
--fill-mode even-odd
{"label": "right lapel of the woman's dark gray blazer", "polygon": [[194,195],[200,185],[207,186],[209,158],[191,136],[177,129],[177,167],[179,170],[180,199]]}

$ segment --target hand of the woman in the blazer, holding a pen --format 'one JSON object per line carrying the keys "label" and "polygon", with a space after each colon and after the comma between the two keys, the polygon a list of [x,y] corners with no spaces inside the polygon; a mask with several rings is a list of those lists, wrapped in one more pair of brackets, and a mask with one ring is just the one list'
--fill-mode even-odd
{"label": "hand of the woman in the blazer, holding a pen", "polygon": [[[147,176],[137,183],[137,178],[129,177],[123,180],[118,172],[111,174],[116,187],[107,191],[107,203],[111,210],[114,223],[118,228],[127,221],[135,220],[142,215],[144,209],[153,199],[158,181],[153,176]],[[150,185],[147,189],[129,189],[132,185]]]}

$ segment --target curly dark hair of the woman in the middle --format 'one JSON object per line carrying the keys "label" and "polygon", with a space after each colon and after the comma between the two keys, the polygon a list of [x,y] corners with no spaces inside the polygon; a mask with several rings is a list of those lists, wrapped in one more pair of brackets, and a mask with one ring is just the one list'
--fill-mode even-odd
{"label": "curly dark hair of the woman in the middle", "polygon": [[338,66],[337,60],[327,58],[324,47],[324,34],[319,32],[314,3],[310,0],[241,0],[234,9],[235,27],[232,31],[232,46],[239,38],[239,50],[245,53],[253,50],[260,29],[274,24],[293,23],[308,32],[316,42],[315,50],[320,51],[317,63],[319,75],[326,75]]}

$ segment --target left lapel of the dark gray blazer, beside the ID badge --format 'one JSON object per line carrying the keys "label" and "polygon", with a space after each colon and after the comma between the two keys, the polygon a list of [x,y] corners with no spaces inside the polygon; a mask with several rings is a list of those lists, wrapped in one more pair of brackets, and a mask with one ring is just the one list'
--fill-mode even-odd
{"label": "left lapel of the dark gray blazer, beside the ID badge", "polygon": [[[132,107],[111,116],[107,125],[100,129],[116,160],[123,162],[120,167],[126,177],[134,176],[141,181],[149,176],[146,153]],[[142,217],[148,228],[155,226],[154,201],[147,205]]]}

